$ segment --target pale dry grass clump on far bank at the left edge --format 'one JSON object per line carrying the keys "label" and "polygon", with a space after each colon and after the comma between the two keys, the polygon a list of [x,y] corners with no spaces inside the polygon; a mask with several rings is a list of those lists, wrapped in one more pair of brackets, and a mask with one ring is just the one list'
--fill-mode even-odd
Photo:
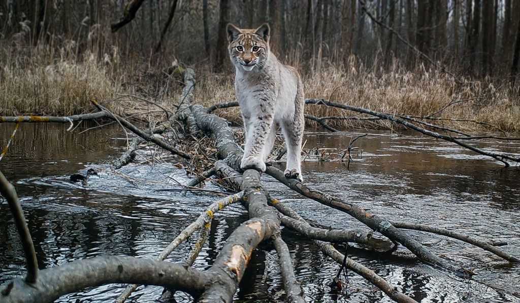
{"label": "pale dry grass clump on far bank at the left edge", "polygon": [[[79,58],[81,57],[81,58]],[[0,68],[0,113],[70,115],[92,108],[121,91],[113,67],[92,53],[75,56],[66,48],[4,49]],[[113,64],[110,64],[113,65]]]}

